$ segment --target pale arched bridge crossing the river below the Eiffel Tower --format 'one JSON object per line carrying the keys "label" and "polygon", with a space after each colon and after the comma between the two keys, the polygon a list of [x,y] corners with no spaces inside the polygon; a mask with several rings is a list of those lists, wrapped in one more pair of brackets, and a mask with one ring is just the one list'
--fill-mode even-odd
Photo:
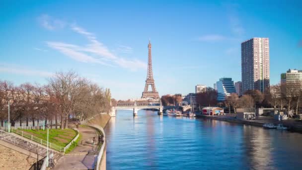
{"label": "pale arched bridge crossing the river below the Eiffel Tower", "polygon": [[191,109],[190,105],[181,105],[180,106],[163,106],[161,102],[127,102],[127,103],[118,103],[117,106],[113,106],[109,112],[110,116],[114,117],[116,110],[133,110],[133,115],[137,116],[138,111],[142,109],[154,109],[158,110],[158,114],[162,114],[165,109],[172,108],[181,108],[182,111]]}

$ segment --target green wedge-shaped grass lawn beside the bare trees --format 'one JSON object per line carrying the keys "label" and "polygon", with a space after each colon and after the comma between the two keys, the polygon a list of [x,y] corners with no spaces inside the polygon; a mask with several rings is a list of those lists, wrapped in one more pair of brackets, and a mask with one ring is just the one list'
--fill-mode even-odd
{"label": "green wedge-shaped grass lawn beside the bare trees", "polygon": [[[47,141],[47,130],[20,130]],[[49,129],[49,142],[61,147],[65,147],[75,138],[76,134],[77,132],[73,129]]]}

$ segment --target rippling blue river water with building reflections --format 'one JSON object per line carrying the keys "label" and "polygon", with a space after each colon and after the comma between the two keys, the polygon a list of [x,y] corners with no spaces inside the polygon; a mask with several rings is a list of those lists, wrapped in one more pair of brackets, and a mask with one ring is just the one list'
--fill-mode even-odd
{"label": "rippling blue river water with building reflections", "polygon": [[118,111],[108,122],[107,170],[291,170],[302,134],[209,119]]}

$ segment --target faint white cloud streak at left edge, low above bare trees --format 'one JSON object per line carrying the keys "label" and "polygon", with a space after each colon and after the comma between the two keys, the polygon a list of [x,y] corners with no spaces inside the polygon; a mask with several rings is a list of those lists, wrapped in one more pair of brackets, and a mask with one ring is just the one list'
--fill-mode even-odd
{"label": "faint white cloud streak at left edge, low above bare trees", "polygon": [[25,76],[40,76],[40,77],[50,77],[53,76],[53,73],[31,70],[26,68],[20,68],[20,66],[0,64],[0,73],[9,73]]}

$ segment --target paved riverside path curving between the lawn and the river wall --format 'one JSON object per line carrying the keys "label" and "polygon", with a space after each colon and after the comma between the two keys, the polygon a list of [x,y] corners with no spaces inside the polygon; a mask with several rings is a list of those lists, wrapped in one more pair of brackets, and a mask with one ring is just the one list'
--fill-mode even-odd
{"label": "paved riverside path curving between the lawn and the river wall", "polygon": [[97,139],[96,130],[90,127],[79,127],[78,130],[82,135],[79,146],[61,157],[55,170],[92,170],[94,168],[94,160],[98,153],[93,151],[91,141],[93,137]]}

